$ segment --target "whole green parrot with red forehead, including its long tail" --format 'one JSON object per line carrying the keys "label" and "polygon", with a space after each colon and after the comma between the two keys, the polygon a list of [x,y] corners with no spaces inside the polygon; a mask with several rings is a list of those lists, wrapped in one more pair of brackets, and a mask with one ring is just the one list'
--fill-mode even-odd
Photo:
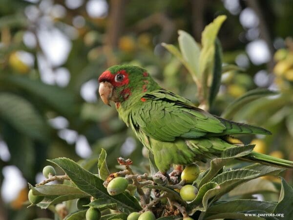
{"label": "whole green parrot with red forehead, including its long tail", "polygon": [[[271,134],[197,108],[188,99],[161,88],[146,69],[138,66],[112,66],[102,73],[99,83],[103,102],[115,102],[121,119],[154,155],[163,174],[171,164],[219,157],[224,150],[235,147],[227,141],[230,134]],[[293,168],[292,161],[256,152],[241,159]]]}

